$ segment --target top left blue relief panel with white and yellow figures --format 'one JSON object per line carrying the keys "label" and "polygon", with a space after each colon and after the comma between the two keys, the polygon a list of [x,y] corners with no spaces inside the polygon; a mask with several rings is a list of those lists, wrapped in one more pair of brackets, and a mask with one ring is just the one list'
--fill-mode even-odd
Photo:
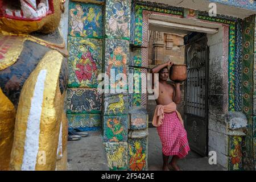
{"label": "top left blue relief panel with white and yellow figures", "polygon": [[102,27],[101,5],[69,2],[69,35],[102,38]]}

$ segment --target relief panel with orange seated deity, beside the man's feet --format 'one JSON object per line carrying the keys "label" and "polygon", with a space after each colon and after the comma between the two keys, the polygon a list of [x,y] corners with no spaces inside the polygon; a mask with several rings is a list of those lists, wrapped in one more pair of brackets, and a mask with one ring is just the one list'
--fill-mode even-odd
{"label": "relief panel with orange seated deity, beside the man's feet", "polygon": [[129,171],[144,171],[147,169],[147,139],[131,139],[128,140],[128,160]]}

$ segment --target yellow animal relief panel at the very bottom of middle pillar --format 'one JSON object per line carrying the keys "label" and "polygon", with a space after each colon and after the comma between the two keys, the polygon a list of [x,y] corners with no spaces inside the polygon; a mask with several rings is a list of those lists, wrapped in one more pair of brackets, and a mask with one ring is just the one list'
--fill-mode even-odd
{"label": "yellow animal relief panel at the very bottom of middle pillar", "polygon": [[110,170],[127,170],[127,142],[106,142],[105,152]]}

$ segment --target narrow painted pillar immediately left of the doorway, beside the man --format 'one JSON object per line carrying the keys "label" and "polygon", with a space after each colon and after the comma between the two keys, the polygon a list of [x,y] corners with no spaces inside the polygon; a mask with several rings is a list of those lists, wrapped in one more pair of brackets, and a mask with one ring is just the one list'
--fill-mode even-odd
{"label": "narrow painted pillar immediately left of the doorway, beside the man", "polygon": [[148,114],[147,105],[147,66],[148,48],[134,46],[137,40],[135,32],[136,23],[135,1],[131,4],[131,35],[130,35],[130,61],[129,70],[134,74],[133,94],[131,96],[132,105],[129,110],[130,127],[128,137],[128,170],[147,170],[147,135],[148,135]]}

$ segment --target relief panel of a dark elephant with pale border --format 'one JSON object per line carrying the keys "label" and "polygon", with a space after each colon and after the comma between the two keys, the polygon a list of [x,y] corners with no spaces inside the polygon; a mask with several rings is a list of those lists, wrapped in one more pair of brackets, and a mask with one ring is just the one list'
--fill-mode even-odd
{"label": "relief panel of a dark elephant with pale border", "polygon": [[101,113],[101,102],[97,89],[68,89],[67,114]]}

